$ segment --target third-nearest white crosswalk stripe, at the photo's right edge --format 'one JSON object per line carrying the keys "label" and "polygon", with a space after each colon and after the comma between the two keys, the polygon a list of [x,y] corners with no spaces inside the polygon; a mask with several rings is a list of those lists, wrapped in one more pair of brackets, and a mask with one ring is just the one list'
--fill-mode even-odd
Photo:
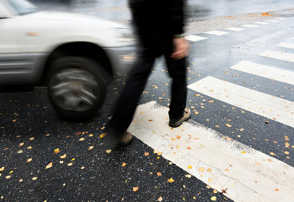
{"label": "third-nearest white crosswalk stripe, at the photo's right edge", "polygon": [[241,61],[230,68],[294,85],[294,72],[291,71],[251,63],[248,61]]}

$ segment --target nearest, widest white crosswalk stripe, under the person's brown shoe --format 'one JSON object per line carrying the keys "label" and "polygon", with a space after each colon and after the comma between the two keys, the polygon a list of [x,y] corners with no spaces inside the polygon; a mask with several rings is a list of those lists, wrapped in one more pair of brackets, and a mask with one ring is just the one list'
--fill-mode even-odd
{"label": "nearest, widest white crosswalk stripe, under the person's brown shoe", "polygon": [[[128,128],[130,133],[213,189],[228,188],[224,195],[232,200],[293,201],[294,168],[286,163],[236,140],[225,140],[222,134],[192,120],[171,130],[168,109],[155,101],[140,105],[134,119],[137,122]],[[188,169],[188,165],[192,168]],[[166,180],[170,177],[173,175],[166,176]]]}

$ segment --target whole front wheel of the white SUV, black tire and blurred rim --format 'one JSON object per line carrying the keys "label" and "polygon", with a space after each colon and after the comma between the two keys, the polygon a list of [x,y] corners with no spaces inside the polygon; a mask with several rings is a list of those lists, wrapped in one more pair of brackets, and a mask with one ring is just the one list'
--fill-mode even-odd
{"label": "whole front wheel of the white SUV, black tire and blurred rim", "polygon": [[85,57],[61,57],[52,61],[46,75],[50,101],[66,119],[86,120],[104,102],[109,75],[96,61]]}

